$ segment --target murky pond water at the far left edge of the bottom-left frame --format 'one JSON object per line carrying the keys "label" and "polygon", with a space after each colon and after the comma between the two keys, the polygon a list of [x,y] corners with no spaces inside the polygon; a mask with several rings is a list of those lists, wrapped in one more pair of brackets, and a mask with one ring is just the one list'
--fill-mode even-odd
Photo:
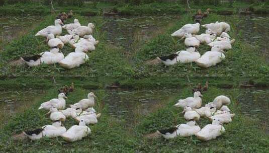
{"label": "murky pond water at the far left edge of the bottom-left frame", "polygon": [[22,112],[38,102],[43,91],[39,90],[9,90],[0,92],[0,122],[5,121],[17,112]]}

